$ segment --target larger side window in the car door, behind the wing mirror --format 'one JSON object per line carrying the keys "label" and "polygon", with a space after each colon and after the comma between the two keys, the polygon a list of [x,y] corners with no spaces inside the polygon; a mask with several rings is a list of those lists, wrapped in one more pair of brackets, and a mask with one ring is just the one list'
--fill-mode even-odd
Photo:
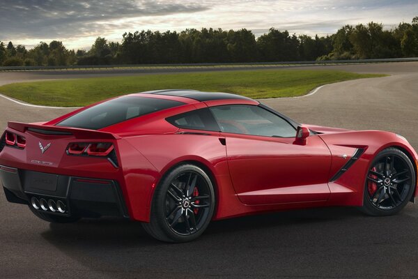
{"label": "larger side window in the car door, behind the wing mirror", "polygon": [[288,121],[256,105],[210,107],[222,132],[266,137],[295,137]]}

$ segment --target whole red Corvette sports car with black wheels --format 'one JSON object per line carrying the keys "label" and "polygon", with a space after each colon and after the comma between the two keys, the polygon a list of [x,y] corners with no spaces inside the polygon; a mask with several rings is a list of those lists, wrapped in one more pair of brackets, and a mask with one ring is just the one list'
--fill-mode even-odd
{"label": "whole red Corvette sports car with black wheels", "polygon": [[210,220],[312,206],[373,216],[417,196],[404,137],[298,124],[229,93],[112,98],[45,123],[9,122],[0,177],[43,220],[121,216],[156,239],[196,239]]}

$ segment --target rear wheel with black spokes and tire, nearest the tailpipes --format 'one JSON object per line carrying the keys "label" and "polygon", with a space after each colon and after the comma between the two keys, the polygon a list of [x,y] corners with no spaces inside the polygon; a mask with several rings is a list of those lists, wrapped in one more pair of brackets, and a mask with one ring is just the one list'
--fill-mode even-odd
{"label": "rear wheel with black spokes and tire, nearest the tailpipes", "polygon": [[215,192],[208,174],[196,165],[178,165],[155,189],[150,223],[145,231],[165,242],[187,242],[208,227],[215,210]]}

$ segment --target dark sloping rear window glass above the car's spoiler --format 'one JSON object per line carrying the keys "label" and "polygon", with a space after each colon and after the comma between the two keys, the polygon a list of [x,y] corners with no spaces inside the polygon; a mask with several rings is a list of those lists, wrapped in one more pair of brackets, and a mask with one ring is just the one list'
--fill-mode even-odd
{"label": "dark sloping rear window glass above the car's spoiler", "polygon": [[121,97],[83,110],[56,126],[99,130],[128,119],[179,105],[184,105],[184,103],[157,98]]}

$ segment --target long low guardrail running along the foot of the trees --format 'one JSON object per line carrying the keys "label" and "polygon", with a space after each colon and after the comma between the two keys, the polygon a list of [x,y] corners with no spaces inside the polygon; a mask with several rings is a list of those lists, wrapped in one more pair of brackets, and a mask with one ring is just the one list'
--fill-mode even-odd
{"label": "long low guardrail running along the foot of the trees", "polygon": [[292,66],[292,65],[325,65],[348,63],[388,63],[418,61],[418,57],[390,59],[357,59],[357,60],[321,60],[321,61],[283,61],[253,63],[181,63],[181,64],[124,64],[124,65],[86,65],[86,66],[8,66],[0,71],[13,70],[104,70],[121,68],[182,68],[182,67],[245,67],[245,66]]}

